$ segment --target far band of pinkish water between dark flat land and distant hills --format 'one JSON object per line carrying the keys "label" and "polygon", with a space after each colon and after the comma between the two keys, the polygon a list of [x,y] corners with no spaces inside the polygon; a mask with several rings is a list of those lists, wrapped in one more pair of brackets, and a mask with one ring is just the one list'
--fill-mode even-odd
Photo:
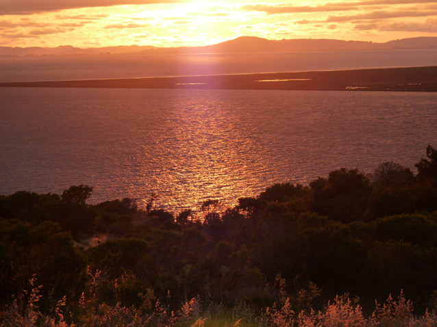
{"label": "far band of pinkish water between dark flat land and distant hills", "polygon": [[0,57],[0,82],[437,66],[437,50]]}

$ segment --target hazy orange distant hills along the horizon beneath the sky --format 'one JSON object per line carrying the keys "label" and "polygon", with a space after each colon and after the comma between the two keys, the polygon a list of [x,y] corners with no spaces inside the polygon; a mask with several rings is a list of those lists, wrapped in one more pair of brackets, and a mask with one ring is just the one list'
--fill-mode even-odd
{"label": "hazy orange distant hills along the horizon beneath the sky", "polygon": [[76,48],[62,45],[56,48],[0,47],[1,57],[42,55],[119,55],[148,53],[253,53],[253,52],[305,52],[305,51],[363,51],[395,49],[437,49],[437,37],[404,38],[385,43],[342,41],[329,39],[267,40],[254,36],[242,36],[234,40],[205,47],[160,48],[138,45]]}

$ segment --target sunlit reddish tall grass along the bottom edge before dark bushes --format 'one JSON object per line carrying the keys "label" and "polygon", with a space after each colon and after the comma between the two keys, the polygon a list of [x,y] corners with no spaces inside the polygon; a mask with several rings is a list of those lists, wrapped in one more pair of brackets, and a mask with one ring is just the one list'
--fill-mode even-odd
{"label": "sunlit reddish tall grass along the bottom edge before dark bushes", "polygon": [[[177,311],[156,301],[153,308],[126,307],[117,303],[93,303],[84,293],[77,307],[67,306],[67,297],[56,302],[48,314],[38,309],[40,290],[35,280],[32,289],[23,291],[12,299],[0,315],[4,327],[434,327],[436,313],[414,315],[413,305],[403,293],[397,300],[389,296],[384,304],[376,303],[368,317],[356,301],[337,296],[320,311],[309,309],[295,312],[290,300],[274,304],[262,311],[255,311],[247,304],[238,303],[229,309],[222,304],[205,304],[199,297],[182,304]],[[92,291],[90,291],[92,295]],[[146,299],[146,298],[145,298]],[[148,299],[147,299],[148,300]],[[70,309],[75,313],[71,313]]]}

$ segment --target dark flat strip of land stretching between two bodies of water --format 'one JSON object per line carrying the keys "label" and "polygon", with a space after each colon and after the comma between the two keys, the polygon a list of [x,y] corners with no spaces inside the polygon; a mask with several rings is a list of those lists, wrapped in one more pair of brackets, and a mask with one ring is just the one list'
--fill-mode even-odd
{"label": "dark flat strip of land stretching between two bodies of water", "polygon": [[23,88],[164,88],[437,92],[437,66],[0,83]]}

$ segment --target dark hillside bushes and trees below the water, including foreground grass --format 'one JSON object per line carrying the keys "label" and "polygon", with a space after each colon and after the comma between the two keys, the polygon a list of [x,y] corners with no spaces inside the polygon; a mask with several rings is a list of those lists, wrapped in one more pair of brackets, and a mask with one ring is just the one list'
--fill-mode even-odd
{"label": "dark hillside bushes and trees below the water, including foreground grass", "polygon": [[224,208],[0,196],[1,326],[436,326],[437,150]]}

